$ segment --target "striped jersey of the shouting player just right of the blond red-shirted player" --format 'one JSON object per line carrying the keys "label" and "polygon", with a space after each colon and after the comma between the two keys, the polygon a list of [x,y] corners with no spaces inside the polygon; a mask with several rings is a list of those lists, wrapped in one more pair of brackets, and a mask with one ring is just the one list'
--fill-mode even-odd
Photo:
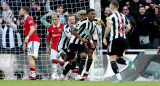
{"label": "striped jersey of the shouting player just right of the blond red-shirted player", "polygon": [[70,39],[67,37],[67,34],[69,33],[72,34],[72,27],[69,24],[66,24],[62,29],[61,37],[58,42],[58,51],[61,49],[68,49]]}

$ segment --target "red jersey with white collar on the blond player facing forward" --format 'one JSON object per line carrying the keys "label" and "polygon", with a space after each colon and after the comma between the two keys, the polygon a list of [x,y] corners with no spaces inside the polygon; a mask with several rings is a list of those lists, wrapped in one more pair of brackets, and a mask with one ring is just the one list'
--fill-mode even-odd
{"label": "red jersey with white collar on the blond player facing forward", "polygon": [[59,38],[61,36],[61,31],[63,29],[63,24],[58,24],[57,26],[55,25],[50,25],[48,27],[48,31],[47,31],[47,41],[50,41],[51,37],[52,37],[52,44],[51,44],[51,48],[54,50],[57,50],[57,45],[58,45],[58,41]]}

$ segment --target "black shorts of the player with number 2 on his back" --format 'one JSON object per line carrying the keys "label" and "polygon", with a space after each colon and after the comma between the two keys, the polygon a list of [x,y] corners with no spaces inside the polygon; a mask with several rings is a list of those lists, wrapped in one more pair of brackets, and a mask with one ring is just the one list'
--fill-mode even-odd
{"label": "black shorts of the player with number 2 on his back", "polygon": [[114,39],[110,42],[109,55],[123,56],[125,49],[128,49],[128,41],[123,37]]}

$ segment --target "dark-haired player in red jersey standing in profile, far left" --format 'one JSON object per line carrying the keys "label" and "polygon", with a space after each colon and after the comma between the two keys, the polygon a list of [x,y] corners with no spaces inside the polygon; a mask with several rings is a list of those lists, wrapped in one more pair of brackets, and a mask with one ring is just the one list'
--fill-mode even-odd
{"label": "dark-haired player in red jersey standing in profile, far left", "polygon": [[25,41],[22,49],[25,50],[27,46],[27,59],[30,66],[30,76],[25,80],[36,80],[35,59],[38,58],[38,50],[40,45],[40,38],[38,37],[35,30],[35,23],[32,17],[28,15],[29,7],[22,7],[19,11],[19,15],[24,18],[23,29],[25,33]]}

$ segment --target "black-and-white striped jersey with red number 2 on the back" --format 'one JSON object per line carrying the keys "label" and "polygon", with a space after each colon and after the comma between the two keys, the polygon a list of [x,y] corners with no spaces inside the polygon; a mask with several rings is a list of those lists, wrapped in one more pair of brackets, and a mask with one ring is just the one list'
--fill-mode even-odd
{"label": "black-and-white striped jersey with red number 2 on the back", "polygon": [[125,15],[115,11],[109,17],[107,17],[107,23],[112,23],[110,30],[110,41],[119,37],[126,39],[125,31],[126,26],[129,25],[129,22]]}

